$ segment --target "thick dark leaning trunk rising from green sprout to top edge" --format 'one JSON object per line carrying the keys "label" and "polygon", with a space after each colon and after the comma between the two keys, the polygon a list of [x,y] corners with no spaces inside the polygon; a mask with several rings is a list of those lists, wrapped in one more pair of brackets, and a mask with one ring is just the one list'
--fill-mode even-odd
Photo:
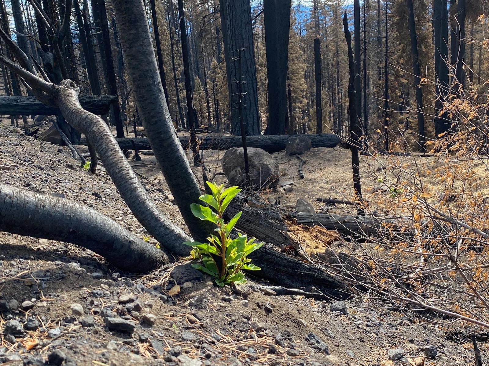
{"label": "thick dark leaning trunk rising from green sprout to top edge", "polygon": [[[125,0],[113,0],[113,4],[134,99],[148,141],[192,236],[198,241],[205,240],[210,232],[209,226],[197,219],[190,210],[190,204],[199,201],[200,189],[185,151],[178,141],[164,100],[143,1],[129,3]],[[184,23],[183,18],[180,20]],[[183,34],[182,32],[182,37]],[[188,253],[188,246],[181,243],[171,245],[170,250],[174,253]]]}

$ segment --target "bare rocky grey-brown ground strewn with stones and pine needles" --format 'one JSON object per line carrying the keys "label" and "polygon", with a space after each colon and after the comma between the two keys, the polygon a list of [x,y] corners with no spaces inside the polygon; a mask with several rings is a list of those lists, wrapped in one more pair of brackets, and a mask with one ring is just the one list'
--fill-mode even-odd
{"label": "bare rocky grey-brown ground strewn with stones and pine needles", "polygon": [[[216,173],[218,155],[205,156]],[[282,205],[297,198],[313,203],[317,195],[334,193],[329,187],[342,189],[348,174],[349,151],[341,148],[309,151],[308,180],[296,177],[295,158],[276,156],[282,179],[293,181],[294,189],[264,197],[280,198]],[[154,157],[143,158],[154,163]],[[320,164],[337,173],[325,180]],[[157,167],[136,169],[156,204],[184,228]],[[5,124],[0,182],[85,203],[147,235],[103,166],[90,175],[67,147],[38,142]],[[381,304],[372,308],[360,298],[334,303],[276,296],[264,285],[219,288],[184,259],[132,275],[83,248],[0,232],[0,365],[474,364],[469,341],[422,317]],[[479,346],[484,360],[487,346]]]}

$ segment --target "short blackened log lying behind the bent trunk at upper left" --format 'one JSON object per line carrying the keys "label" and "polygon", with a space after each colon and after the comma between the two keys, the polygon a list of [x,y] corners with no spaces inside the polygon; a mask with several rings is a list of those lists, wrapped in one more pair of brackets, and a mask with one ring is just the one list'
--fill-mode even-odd
{"label": "short blackened log lying behind the bent trunk at upper left", "polygon": [[[81,96],[80,104],[89,112],[102,115],[109,113],[112,102],[117,100],[113,95]],[[0,97],[0,115],[9,116],[52,116],[58,115],[60,110],[39,102],[36,97]]]}

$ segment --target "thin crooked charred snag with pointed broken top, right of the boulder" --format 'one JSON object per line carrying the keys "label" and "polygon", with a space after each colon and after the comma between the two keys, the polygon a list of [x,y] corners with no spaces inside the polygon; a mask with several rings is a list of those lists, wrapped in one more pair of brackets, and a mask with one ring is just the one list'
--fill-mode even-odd
{"label": "thin crooked charred snag with pointed broken top, right of the boulder", "polygon": [[[352,35],[348,29],[348,18],[345,12],[343,16],[343,27],[345,31],[345,39],[348,47],[348,67],[350,70],[350,78],[348,82],[348,102],[350,106],[350,149],[352,151],[352,170],[353,170],[353,189],[355,197],[358,201],[362,200],[362,190],[360,186],[360,162],[358,150],[361,148],[358,136],[359,120],[356,117],[356,96],[355,96],[355,65],[353,60],[352,50]],[[358,213],[363,211],[358,209]]]}

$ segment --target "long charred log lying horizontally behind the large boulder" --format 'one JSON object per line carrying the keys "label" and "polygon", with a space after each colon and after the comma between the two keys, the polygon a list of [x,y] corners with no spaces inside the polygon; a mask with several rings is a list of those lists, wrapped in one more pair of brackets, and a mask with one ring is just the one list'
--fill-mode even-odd
{"label": "long charred log lying horizontally behind the large boulder", "polygon": [[[320,133],[315,135],[305,135],[311,140],[312,147],[335,147],[341,142],[339,136],[332,133]],[[183,148],[190,148],[188,136],[179,136]],[[278,136],[246,136],[247,147],[259,147],[269,153],[285,150],[285,144],[290,135]],[[151,150],[147,138],[121,138],[116,139],[121,149],[132,150],[133,142],[138,150]],[[241,136],[216,136],[205,135],[197,138],[201,150],[227,150],[231,147],[242,147],[243,141]],[[87,144],[84,139],[80,143]]]}

